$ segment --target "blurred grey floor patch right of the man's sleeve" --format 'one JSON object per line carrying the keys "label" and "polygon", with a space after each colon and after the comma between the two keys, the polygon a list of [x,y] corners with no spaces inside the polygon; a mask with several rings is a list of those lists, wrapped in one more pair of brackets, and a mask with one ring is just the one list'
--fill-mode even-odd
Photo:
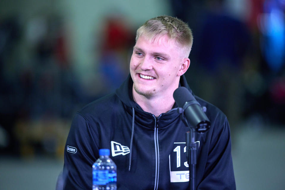
{"label": "blurred grey floor patch right of the man's sleeve", "polygon": [[238,190],[285,189],[285,126],[248,127],[235,143],[232,156]]}

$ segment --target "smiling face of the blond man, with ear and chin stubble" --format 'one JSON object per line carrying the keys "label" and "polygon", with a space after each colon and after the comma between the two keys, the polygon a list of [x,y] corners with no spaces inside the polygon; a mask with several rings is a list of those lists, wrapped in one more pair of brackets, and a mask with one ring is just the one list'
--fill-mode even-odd
{"label": "smiling face of the blond man, with ear and chin stubble", "polygon": [[180,76],[186,72],[190,63],[183,65],[189,59],[182,54],[181,47],[167,36],[155,42],[139,37],[130,62],[133,93],[148,98],[159,95],[172,97],[178,88]]}

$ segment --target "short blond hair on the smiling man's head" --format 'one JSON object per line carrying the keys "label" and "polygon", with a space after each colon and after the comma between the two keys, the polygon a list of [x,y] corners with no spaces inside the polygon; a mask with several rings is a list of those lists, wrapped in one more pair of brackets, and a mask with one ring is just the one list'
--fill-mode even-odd
{"label": "short blond hair on the smiling man's head", "polygon": [[167,15],[158,16],[147,20],[137,29],[136,41],[140,36],[155,42],[162,36],[167,35],[169,39],[174,39],[176,45],[182,48],[185,57],[189,57],[193,44],[192,31],[188,24],[178,18]]}

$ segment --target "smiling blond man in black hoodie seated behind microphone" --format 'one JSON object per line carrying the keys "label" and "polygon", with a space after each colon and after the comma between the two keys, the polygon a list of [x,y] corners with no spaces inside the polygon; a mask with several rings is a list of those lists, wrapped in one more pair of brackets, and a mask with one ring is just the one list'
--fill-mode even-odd
{"label": "smiling blond man in black hoodie seated behind microphone", "polygon": [[[118,189],[187,189],[189,129],[176,111],[173,92],[179,86],[191,92],[183,74],[192,41],[188,25],[170,16],[152,18],[137,30],[129,77],[73,119],[64,153],[65,189],[91,189],[91,166],[100,148],[112,152]],[[235,189],[227,118],[196,99],[211,121],[208,132],[196,136],[197,189]]]}

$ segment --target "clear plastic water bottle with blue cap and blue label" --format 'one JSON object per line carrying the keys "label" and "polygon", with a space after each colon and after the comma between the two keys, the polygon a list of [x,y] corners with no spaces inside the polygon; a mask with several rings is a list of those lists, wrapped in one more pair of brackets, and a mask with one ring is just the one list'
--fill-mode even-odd
{"label": "clear plastic water bottle with blue cap and blue label", "polygon": [[99,159],[92,166],[92,190],[117,190],[117,166],[109,158],[109,149],[99,150]]}

